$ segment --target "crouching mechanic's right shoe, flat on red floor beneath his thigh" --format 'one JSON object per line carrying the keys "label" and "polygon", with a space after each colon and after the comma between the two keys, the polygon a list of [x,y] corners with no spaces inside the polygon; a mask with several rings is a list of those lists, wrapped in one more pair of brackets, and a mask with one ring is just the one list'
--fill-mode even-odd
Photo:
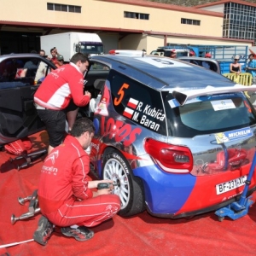
{"label": "crouching mechanic's right shoe, flat on red floor beneath his thigh", "polygon": [[94,232],[88,230],[84,226],[78,227],[77,229],[72,229],[70,227],[61,228],[61,233],[64,236],[74,237],[77,241],[86,241],[94,236]]}

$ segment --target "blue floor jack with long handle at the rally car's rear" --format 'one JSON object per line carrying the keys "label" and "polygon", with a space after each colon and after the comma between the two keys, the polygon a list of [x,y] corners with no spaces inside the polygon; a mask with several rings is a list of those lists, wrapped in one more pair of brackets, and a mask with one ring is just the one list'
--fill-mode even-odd
{"label": "blue floor jack with long handle at the rally car's rear", "polygon": [[249,185],[251,183],[254,169],[256,165],[256,152],[253,155],[253,162],[247,176],[247,180],[245,182],[245,187],[241,193],[241,197],[239,201],[234,201],[230,205],[218,209],[215,214],[218,216],[219,221],[223,221],[226,216],[237,219],[247,215],[249,207],[253,204],[253,200],[251,200],[252,196],[247,197],[247,192],[249,189]]}

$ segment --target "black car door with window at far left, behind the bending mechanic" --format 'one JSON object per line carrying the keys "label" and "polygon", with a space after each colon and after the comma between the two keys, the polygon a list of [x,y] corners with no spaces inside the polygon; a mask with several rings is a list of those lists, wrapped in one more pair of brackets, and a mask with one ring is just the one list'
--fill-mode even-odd
{"label": "black car door with window at far left, behind the bending mechanic", "polygon": [[33,69],[44,61],[45,73],[55,69],[50,61],[40,55],[0,57],[0,145],[44,130],[44,124],[38,118],[33,104],[34,93],[40,86],[35,85],[36,70],[22,74],[29,61],[33,62]]}

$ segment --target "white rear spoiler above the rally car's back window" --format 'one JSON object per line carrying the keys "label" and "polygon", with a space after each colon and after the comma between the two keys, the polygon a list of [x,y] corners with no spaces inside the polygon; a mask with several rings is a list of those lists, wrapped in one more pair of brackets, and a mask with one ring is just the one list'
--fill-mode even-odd
{"label": "white rear spoiler above the rally car's back window", "polygon": [[183,106],[188,100],[196,98],[198,96],[212,96],[214,94],[230,93],[230,92],[240,92],[240,91],[256,91],[256,84],[251,86],[244,86],[241,84],[236,84],[233,87],[213,87],[208,85],[204,89],[199,90],[173,90],[172,96],[177,100],[177,102]]}

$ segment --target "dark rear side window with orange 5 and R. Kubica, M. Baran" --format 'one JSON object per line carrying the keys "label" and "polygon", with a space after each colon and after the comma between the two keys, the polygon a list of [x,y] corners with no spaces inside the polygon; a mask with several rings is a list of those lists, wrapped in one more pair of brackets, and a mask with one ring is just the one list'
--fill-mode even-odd
{"label": "dark rear side window with orange 5 and R. Kubica, M. Baran", "polygon": [[166,114],[160,91],[115,71],[111,71],[109,80],[115,111],[137,125],[166,135]]}

